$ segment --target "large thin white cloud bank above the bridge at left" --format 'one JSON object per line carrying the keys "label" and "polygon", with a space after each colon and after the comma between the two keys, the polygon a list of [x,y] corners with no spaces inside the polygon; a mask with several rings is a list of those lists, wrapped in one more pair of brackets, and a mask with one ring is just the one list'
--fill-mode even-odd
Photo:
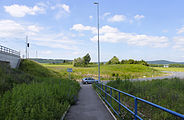
{"label": "large thin white cloud bank above the bridge at left", "polygon": [[[6,38],[9,42],[14,43],[15,39],[25,40],[25,36],[29,36],[31,44],[38,46],[46,46],[50,48],[63,48],[67,50],[77,50],[76,41],[70,39],[63,33],[49,33],[43,31],[44,28],[34,24],[21,24],[13,20],[0,20],[0,39]],[[48,32],[48,33],[47,33]]]}

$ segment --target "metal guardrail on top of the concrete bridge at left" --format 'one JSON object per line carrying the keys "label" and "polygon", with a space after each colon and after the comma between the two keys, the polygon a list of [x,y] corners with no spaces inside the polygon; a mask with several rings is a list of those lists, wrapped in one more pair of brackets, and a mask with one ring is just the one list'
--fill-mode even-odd
{"label": "metal guardrail on top of the concrete bridge at left", "polygon": [[13,49],[10,49],[10,48],[7,48],[7,47],[4,47],[4,46],[1,46],[1,45],[0,45],[0,52],[20,56],[20,52],[13,50]]}

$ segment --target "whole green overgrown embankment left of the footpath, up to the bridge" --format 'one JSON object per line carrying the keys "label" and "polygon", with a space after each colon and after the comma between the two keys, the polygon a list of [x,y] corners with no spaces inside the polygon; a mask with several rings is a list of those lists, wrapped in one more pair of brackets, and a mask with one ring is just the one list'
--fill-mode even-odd
{"label": "whole green overgrown embankment left of the footpath, up to the bridge", "polygon": [[80,89],[42,65],[23,60],[18,70],[0,67],[0,119],[60,119]]}

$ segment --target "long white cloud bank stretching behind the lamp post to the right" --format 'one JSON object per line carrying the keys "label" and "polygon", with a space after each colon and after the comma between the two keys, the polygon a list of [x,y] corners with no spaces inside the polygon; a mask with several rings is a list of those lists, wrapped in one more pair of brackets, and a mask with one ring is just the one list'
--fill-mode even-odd
{"label": "long white cloud bank stretching behind the lamp post to the right", "polygon": [[[82,24],[74,25],[73,30],[76,31],[91,31],[93,34],[96,30],[95,27],[84,26]],[[97,41],[97,35],[91,38],[92,41]],[[105,25],[100,28],[100,41],[109,43],[126,42],[135,46],[150,46],[150,47],[167,47],[169,45],[168,38],[165,36],[150,36],[136,33],[120,32],[117,28]]]}

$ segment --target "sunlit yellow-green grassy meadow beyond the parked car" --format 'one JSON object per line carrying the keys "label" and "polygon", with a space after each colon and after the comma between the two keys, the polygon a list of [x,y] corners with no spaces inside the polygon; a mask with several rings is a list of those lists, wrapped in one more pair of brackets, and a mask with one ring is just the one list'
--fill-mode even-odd
{"label": "sunlit yellow-green grassy meadow beyond the parked car", "polygon": [[[67,76],[67,68],[72,68],[72,77],[81,79],[83,77],[94,77],[97,79],[97,65],[90,65],[88,67],[73,67],[73,65],[55,65],[55,64],[43,64],[45,67],[61,73],[63,76]],[[117,65],[101,65],[101,79],[102,80],[114,80],[119,77],[121,79],[143,78],[143,77],[155,77],[161,76],[159,70],[135,64],[117,64]]]}

